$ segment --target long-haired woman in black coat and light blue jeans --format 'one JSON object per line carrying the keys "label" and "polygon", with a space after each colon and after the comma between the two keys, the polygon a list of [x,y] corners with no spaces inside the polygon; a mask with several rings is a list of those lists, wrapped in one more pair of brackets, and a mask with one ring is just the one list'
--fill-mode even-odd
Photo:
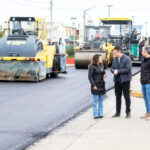
{"label": "long-haired woman in black coat and light blue jeans", "polygon": [[102,57],[99,54],[93,56],[89,65],[89,81],[91,93],[93,94],[93,116],[95,119],[103,118],[103,97],[105,94],[105,70]]}

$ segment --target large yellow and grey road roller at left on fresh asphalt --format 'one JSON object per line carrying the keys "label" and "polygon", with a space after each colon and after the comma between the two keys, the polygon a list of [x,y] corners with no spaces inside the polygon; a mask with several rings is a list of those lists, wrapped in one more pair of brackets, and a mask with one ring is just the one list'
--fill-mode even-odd
{"label": "large yellow and grey road roller at left on fresh asphalt", "polygon": [[45,18],[10,17],[0,39],[0,80],[39,81],[66,72],[65,54],[47,43]]}

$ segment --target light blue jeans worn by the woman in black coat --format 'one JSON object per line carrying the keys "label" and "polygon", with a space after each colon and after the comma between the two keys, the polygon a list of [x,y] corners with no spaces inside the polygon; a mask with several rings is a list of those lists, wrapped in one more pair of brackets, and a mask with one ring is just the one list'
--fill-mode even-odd
{"label": "light blue jeans worn by the woman in black coat", "polygon": [[103,95],[93,95],[93,116],[103,116]]}

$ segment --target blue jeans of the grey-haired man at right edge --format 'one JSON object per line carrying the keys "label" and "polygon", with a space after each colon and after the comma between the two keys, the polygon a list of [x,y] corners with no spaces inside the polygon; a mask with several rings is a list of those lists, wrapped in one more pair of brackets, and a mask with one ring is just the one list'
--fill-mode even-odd
{"label": "blue jeans of the grey-haired man at right edge", "polygon": [[146,111],[150,113],[150,84],[142,84],[142,93],[145,101]]}

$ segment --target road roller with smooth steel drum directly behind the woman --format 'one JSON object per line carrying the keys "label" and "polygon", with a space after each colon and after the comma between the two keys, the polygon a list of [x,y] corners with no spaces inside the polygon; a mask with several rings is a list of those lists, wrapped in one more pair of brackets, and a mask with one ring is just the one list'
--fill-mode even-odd
{"label": "road roller with smooth steel drum directly behind the woman", "polygon": [[75,67],[88,68],[93,55],[101,54],[104,67],[107,68],[107,51],[103,50],[109,36],[109,27],[86,26],[86,43],[80,50],[75,51]]}

